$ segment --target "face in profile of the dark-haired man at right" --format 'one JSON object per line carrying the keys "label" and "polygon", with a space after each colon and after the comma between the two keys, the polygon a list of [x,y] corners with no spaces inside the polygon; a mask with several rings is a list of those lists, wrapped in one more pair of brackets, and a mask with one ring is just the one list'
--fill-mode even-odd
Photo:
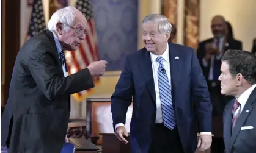
{"label": "face in profile of the dark-haired man at right", "polygon": [[221,64],[221,75],[219,76],[221,81],[221,94],[235,96],[238,87],[236,86],[237,79],[232,77],[229,71],[229,64],[224,61]]}

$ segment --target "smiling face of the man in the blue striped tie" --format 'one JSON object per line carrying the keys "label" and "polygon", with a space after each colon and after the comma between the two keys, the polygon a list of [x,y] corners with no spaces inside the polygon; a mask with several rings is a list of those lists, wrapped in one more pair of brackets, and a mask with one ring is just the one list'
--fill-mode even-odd
{"label": "smiling face of the man in the blue striped tie", "polygon": [[166,49],[168,34],[161,34],[158,29],[158,23],[144,23],[142,25],[142,40],[145,48],[150,52],[159,52]]}

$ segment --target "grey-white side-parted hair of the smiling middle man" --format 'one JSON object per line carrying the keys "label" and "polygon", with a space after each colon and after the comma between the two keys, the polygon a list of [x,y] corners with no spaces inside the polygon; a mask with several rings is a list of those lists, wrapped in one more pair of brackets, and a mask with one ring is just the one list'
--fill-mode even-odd
{"label": "grey-white side-parted hair of the smiling middle man", "polygon": [[142,25],[144,23],[158,23],[158,30],[161,34],[172,32],[172,24],[170,24],[170,21],[164,15],[160,15],[160,14],[147,15],[142,21]]}

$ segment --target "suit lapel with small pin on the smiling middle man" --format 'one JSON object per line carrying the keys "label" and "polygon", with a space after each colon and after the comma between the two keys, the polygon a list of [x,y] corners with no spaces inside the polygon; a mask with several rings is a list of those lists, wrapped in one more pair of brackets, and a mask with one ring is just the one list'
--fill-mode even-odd
{"label": "suit lapel with small pin on the smiling middle man", "polygon": [[172,99],[175,99],[175,91],[180,82],[180,66],[182,57],[175,44],[169,43],[170,78],[172,85]]}

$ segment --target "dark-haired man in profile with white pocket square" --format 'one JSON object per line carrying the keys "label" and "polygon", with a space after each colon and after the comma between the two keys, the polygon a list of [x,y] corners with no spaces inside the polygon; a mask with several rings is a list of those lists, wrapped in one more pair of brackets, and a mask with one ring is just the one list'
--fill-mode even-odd
{"label": "dark-haired man in profile with white pocket square", "polygon": [[234,96],[224,110],[226,153],[256,152],[256,57],[229,50],[222,57],[221,94]]}

